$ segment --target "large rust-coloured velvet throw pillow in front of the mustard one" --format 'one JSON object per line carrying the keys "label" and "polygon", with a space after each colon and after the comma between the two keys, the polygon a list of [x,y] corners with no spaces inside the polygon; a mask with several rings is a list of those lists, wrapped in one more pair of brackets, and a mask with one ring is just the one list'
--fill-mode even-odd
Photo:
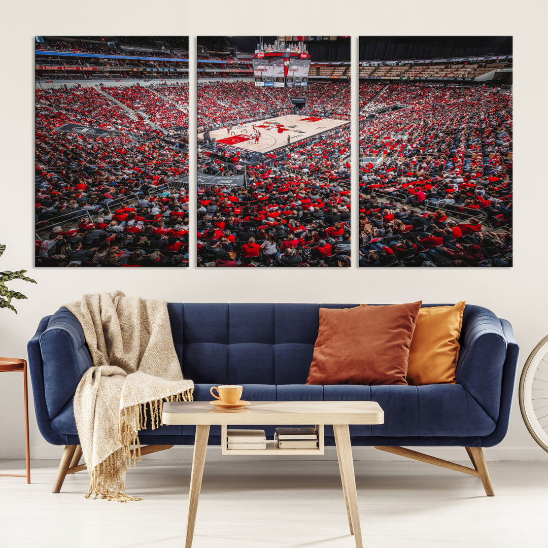
{"label": "large rust-coloured velvet throw pillow in front of the mustard one", "polygon": [[306,384],[407,384],[409,345],[420,305],[319,309]]}

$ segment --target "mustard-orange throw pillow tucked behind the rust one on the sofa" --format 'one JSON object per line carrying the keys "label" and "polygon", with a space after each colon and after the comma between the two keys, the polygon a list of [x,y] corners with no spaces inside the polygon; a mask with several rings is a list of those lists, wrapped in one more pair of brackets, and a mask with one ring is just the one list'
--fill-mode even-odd
{"label": "mustard-orange throw pillow tucked behind the rust one on the sofa", "polygon": [[455,306],[420,309],[409,349],[408,384],[456,383],[465,305],[460,301]]}

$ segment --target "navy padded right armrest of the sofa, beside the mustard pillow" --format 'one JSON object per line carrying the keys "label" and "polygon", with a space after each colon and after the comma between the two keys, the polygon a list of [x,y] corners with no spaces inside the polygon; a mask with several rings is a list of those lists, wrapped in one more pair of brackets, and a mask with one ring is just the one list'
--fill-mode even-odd
{"label": "navy padded right armrest of the sofa, beside the mustard pillow", "polygon": [[500,413],[506,347],[499,318],[481,306],[466,305],[456,382],[495,423]]}

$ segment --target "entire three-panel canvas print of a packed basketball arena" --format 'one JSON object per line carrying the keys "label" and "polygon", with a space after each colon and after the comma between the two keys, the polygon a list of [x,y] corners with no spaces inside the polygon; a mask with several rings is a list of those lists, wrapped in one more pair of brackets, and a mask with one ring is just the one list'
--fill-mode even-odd
{"label": "entire three-panel canvas print of a packed basketball arena", "polygon": [[350,50],[198,36],[189,121],[188,38],[36,37],[36,265],[351,266],[354,69],[355,264],[511,266],[511,38]]}

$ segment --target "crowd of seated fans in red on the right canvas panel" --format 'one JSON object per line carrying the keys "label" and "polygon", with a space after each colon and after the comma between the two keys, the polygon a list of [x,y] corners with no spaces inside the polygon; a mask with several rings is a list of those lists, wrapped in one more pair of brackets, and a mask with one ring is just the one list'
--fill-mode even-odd
{"label": "crowd of seated fans in red on the right canvas panel", "polygon": [[359,265],[510,266],[511,90],[360,91]]}

